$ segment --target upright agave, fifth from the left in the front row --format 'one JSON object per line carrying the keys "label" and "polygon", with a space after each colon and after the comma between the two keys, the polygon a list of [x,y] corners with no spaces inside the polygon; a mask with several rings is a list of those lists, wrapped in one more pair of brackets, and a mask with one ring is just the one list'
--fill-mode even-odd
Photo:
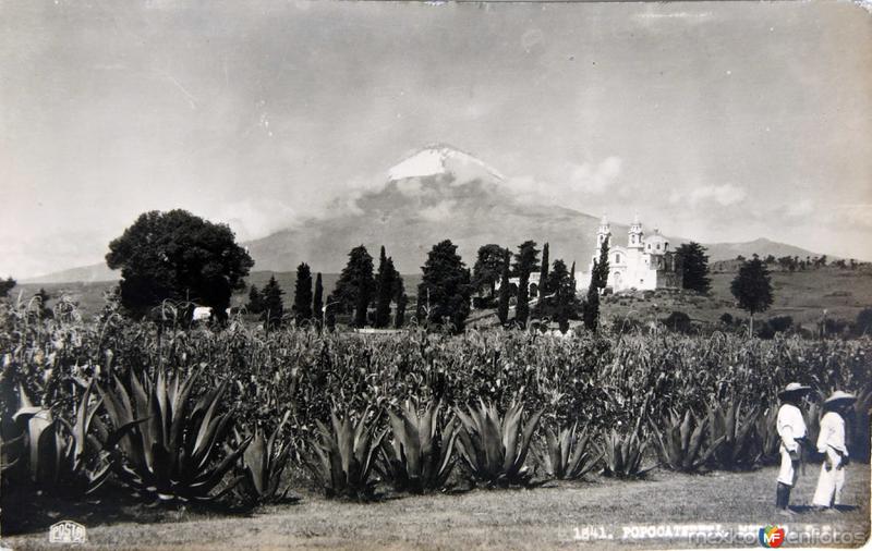
{"label": "upright agave, fifth from the left in the front row", "polygon": [[451,475],[457,431],[452,419],[443,423],[440,409],[436,400],[421,411],[409,399],[399,407],[399,414],[388,411],[392,439],[382,442],[382,472],[393,481],[397,491],[437,490]]}

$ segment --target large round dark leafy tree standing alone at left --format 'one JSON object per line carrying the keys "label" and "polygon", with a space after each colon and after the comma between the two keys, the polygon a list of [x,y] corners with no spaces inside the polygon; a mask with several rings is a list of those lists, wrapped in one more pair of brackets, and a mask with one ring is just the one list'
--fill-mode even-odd
{"label": "large round dark leafy tree standing alone at left", "polygon": [[109,243],[106,262],[121,269],[121,304],[133,317],[170,299],[211,306],[223,318],[254,266],[229,226],[180,209],[141,215]]}

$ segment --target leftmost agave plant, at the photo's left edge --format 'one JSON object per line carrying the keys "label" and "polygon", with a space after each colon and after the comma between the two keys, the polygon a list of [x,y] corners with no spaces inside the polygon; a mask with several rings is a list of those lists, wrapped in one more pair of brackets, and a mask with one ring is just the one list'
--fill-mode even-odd
{"label": "leftmost agave plant, at the photo's left edge", "polygon": [[49,493],[82,497],[96,491],[112,466],[109,451],[141,423],[132,419],[108,431],[96,416],[100,401],[90,403],[93,385],[92,381],[77,403],[73,425],[33,405],[24,389],[19,389],[21,407],[13,419],[26,424],[22,437],[26,436],[31,479]]}

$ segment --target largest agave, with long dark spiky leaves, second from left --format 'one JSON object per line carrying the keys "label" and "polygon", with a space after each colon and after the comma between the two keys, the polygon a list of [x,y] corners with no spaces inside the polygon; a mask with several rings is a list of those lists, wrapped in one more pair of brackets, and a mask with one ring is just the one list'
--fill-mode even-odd
{"label": "largest agave, with long dark spiky leaves, second from left", "polygon": [[121,439],[114,470],[134,495],[152,503],[215,502],[242,480],[214,493],[251,438],[220,456],[233,420],[232,412],[218,413],[227,381],[194,402],[196,377],[197,371],[182,379],[158,370],[140,380],[131,371],[126,385],[114,377],[111,385],[97,387],[114,427],[145,418]]}

